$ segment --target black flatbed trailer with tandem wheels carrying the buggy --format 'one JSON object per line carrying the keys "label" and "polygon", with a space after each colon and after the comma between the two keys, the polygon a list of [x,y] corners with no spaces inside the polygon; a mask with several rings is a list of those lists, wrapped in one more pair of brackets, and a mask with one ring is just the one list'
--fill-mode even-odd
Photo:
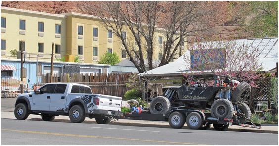
{"label": "black flatbed trailer with tandem wheels carrying the buggy", "polygon": [[169,114],[143,113],[123,113],[120,119],[147,120],[147,121],[168,121],[172,128],[182,128],[185,123],[190,129],[206,130],[213,127],[218,131],[226,131],[229,126],[238,125],[242,127],[261,128],[261,124],[247,122],[240,123],[239,120],[213,118],[210,113],[199,110],[176,109]]}

